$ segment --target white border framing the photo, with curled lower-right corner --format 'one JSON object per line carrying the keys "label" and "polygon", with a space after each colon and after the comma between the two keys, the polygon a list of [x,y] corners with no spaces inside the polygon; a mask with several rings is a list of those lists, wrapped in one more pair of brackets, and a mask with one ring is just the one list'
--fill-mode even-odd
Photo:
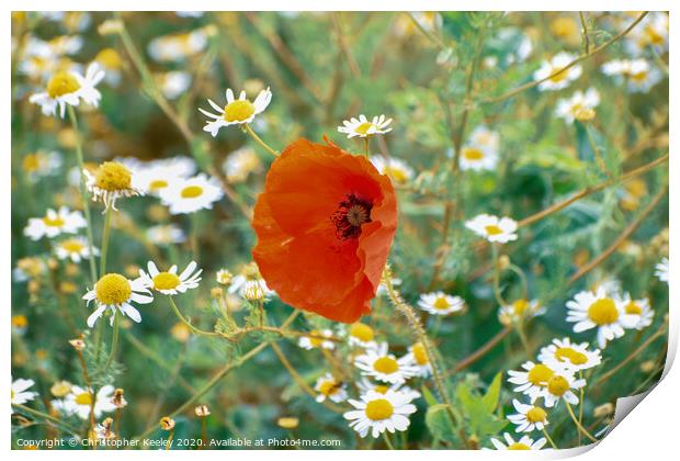
{"label": "white border framing the photo, with curled lower-right corner", "polygon": [[[5,98],[2,99],[4,106],[1,112],[2,121],[1,121],[1,130],[4,132],[5,136],[5,148],[3,154],[1,155],[1,160],[3,165],[2,167],[2,179],[0,180],[0,184],[2,184],[2,192],[0,200],[1,205],[0,210],[9,211],[11,206],[10,200],[10,183],[11,183],[11,170],[10,170],[10,155],[11,144],[10,144],[10,120],[11,120],[11,103],[7,95],[9,95],[9,63],[11,60],[11,46],[10,46],[10,14],[11,10],[90,10],[90,11],[106,11],[106,10],[129,10],[129,11],[152,11],[152,10],[161,10],[161,11],[173,11],[173,10],[186,10],[188,8],[194,10],[234,10],[234,11],[265,11],[265,10],[286,10],[286,11],[305,11],[305,10],[319,10],[319,11],[338,11],[338,10],[372,10],[372,11],[409,11],[409,10],[513,10],[513,11],[544,11],[554,9],[557,11],[603,11],[603,10],[665,10],[671,11],[670,14],[670,42],[672,49],[671,58],[670,58],[670,69],[671,76],[678,76],[677,69],[677,59],[675,58],[675,50],[677,46],[677,40],[675,31],[678,26],[677,19],[677,1],[662,1],[662,0],[646,0],[646,1],[622,1],[622,0],[571,0],[568,3],[565,2],[551,2],[546,1],[536,1],[536,0],[521,0],[521,1],[494,1],[494,0],[475,0],[469,2],[462,1],[443,1],[443,0],[419,0],[419,1],[399,1],[399,0],[344,0],[342,2],[336,1],[321,1],[321,0],[288,0],[286,2],[274,3],[272,1],[267,0],[249,0],[248,2],[229,2],[229,1],[217,1],[217,0],[193,0],[191,3],[184,1],[177,0],[166,0],[162,3],[152,2],[148,0],[120,0],[120,1],[109,1],[109,2],[91,2],[91,1],[82,1],[82,0],[61,0],[59,2],[54,1],[4,1],[3,7],[3,23],[5,27],[3,27],[2,35],[2,54],[4,57],[4,63],[7,64],[4,67],[4,71],[0,74],[0,79],[2,80],[2,87],[5,91]],[[675,81],[671,80],[670,85],[670,94],[672,94],[672,89],[675,87]],[[672,95],[670,97],[672,101]],[[678,120],[678,106],[679,103],[675,103],[670,106],[670,132],[677,133],[675,121]],[[675,137],[670,138],[671,149],[676,146]],[[680,206],[680,201],[678,200],[678,184],[680,183],[680,169],[677,161],[673,159],[673,155],[671,155],[670,159],[670,226],[671,229],[680,228],[678,223],[678,211]],[[7,213],[4,213],[7,216]],[[677,232],[675,232],[677,234]],[[11,267],[10,267],[10,246],[9,241],[11,238],[10,235],[10,226],[9,223],[4,223],[0,228],[0,236],[2,238],[2,245],[0,246],[0,251],[3,257],[3,263],[0,267],[0,280],[3,286],[3,290],[0,291],[0,301],[1,301],[1,319],[2,325],[5,328],[10,328],[10,290],[11,290]],[[673,238],[675,235],[673,235]],[[673,240],[675,241],[675,240]],[[680,250],[678,250],[678,245],[672,244],[670,248],[670,260],[671,261],[680,261]],[[677,351],[678,344],[678,331],[679,331],[679,316],[678,308],[680,308],[680,300],[679,292],[677,290],[678,283],[680,282],[680,272],[675,271],[671,273],[671,283],[670,283],[670,345],[669,345],[669,357],[675,357]],[[673,289],[676,286],[676,289]],[[5,330],[7,331],[7,330]],[[5,340],[2,342],[2,366],[3,370],[10,369],[10,336],[5,337]],[[624,420],[604,440],[594,449],[589,450],[585,454],[581,456],[583,460],[639,460],[639,459],[669,459],[669,453],[676,452],[677,450],[677,438],[678,438],[678,416],[680,415],[680,398],[678,398],[678,390],[680,390],[680,372],[677,370],[677,367],[673,369],[666,370],[667,375],[664,381],[655,389],[649,396],[647,396],[642,405],[633,411],[631,415],[628,415]],[[10,380],[9,374],[5,375],[3,380],[4,395],[10,394]],[[9,407],[9,405],[8,405]],[[10,418],[4,417],[2,421],[2,427],[0,427],[0,438],[4,440],[4,449],[8,450],[10,447]],[[553,456],[548,457],[547,453],[542,452],[523,452],[520,454],[522,459],[546,459],[554,458],[555,454],[559,454],[559,458],[566,457],[569,454],[577,454],[581,452],[581,450],[560,450],[559,453],[553,453]],[[39,454],[35,454],[35,451],[13,451],[12,457],[16,458],[56,458],[56,459],[68,459],[72,460],[75,458],[88,459],[91,457],[91,452],[87,451],[41,451]],[[371,458],[373,460],[376,459],[411,459],[411,457],[433,457],[437,459],[452,459],[455,457],[458,459],[476,459],[476,460],[491,460],[498,459],[499,457],[511,456],[508,454],[510,452],[498,452],[498,451],[478,451],[478,452],[468,452],[468,451],[429,451],[424,453],[423,451],[419,451],[418,453],[411,453],[406,451],[353,451],[353,452],[344,452],[344,451],[325,451],[324,453],[315,452],[311,450],[303,451],[303,450],[292,450],[292,451],[269,451],[269,452],[256,452],[256,451],[239,451],[239,452],[194,452],[192,456],[199,457],[207,457],[207,458],[217,458],[224,459],[225,457],[235,456],[242,458],[254,458],[264,456],[272,456],[280,458],[282,460],[286,459],[309,459],[317,461],[319,456],[322,456],[326,460],[342,460],[347,461],[347,457],[352,458]],[[126,459],[141,459],[143,457],[146,459],[148,457],[186,457],[188,453],[182,451],[171,451],[159,453],[158,451],[132,451],[127,450],[125,452]],[[677,456],[677,454],[676,454]],[[116,457],[120,458],[121,453],[114,451],[98,451],[97,457],[102,458],[111,458]]]}

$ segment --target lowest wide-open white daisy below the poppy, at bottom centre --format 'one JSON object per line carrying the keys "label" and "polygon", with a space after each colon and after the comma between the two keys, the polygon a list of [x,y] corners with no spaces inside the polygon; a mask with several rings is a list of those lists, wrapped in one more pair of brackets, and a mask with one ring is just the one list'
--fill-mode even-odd
{"label": "lowest wide-open white daisy below the poppy, at bottom centre", "polygon": [[387,391],[379,394],[369,391],[361,396],[361,401],[350,398],[349,403],[356,409],[347,412],[343,416],[361,437],[366,437],[371,431],[371,436],[377,438],[385,429],[394,434],[395,430],[408,428],[408,415],[417,409],[410,402],[411,400],[400,392]]}

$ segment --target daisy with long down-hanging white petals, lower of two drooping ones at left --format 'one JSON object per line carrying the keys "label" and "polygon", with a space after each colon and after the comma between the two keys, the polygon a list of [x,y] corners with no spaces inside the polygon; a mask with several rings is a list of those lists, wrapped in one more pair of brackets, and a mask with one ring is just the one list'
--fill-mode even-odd
{"label": "daisy with long down-hanging white petals, lower of two drooping ones at left", "polygon": [[[123,315],[127,315],[136,323],[141,322],[141,315],[131,303],[148,304],[154,301],[151,292],[144,285],[141,278],[127,280],[120,273],[106,273],[94,283],[94,288],[82,296],[90,304],[94,301],[97,310],[88,317],[88,326],[92,328],[99,317],[106,310],[115,314],[116,310]],[[113,325],[114,316],[111,316]]]}

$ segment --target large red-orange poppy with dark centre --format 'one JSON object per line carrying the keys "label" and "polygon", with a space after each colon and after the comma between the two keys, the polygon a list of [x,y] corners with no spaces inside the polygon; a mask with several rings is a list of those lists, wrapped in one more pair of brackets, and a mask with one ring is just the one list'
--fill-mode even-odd
{"label": "large red-orange poppy with dark centre", "polygon": [[365,157],[327,143],[297,139],[272,164],[254,206],[252,256],[283,302],[351,323],[371,312],[397,201]]}

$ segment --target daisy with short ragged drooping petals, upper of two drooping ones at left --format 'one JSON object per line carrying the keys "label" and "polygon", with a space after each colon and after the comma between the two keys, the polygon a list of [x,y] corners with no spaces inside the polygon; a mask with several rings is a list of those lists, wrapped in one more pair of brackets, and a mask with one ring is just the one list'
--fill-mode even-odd
{"label": "daisy with short ragged drooping petals, upper of two drooping ones at left", "polygon": [[117,210],[115,202],[120,198],[144,194],[143,190],[135,187],[137,171],[121,162],[104,161],[94,171],[83,168],[82,173],[92,201],[101,201],[105,210]]}

